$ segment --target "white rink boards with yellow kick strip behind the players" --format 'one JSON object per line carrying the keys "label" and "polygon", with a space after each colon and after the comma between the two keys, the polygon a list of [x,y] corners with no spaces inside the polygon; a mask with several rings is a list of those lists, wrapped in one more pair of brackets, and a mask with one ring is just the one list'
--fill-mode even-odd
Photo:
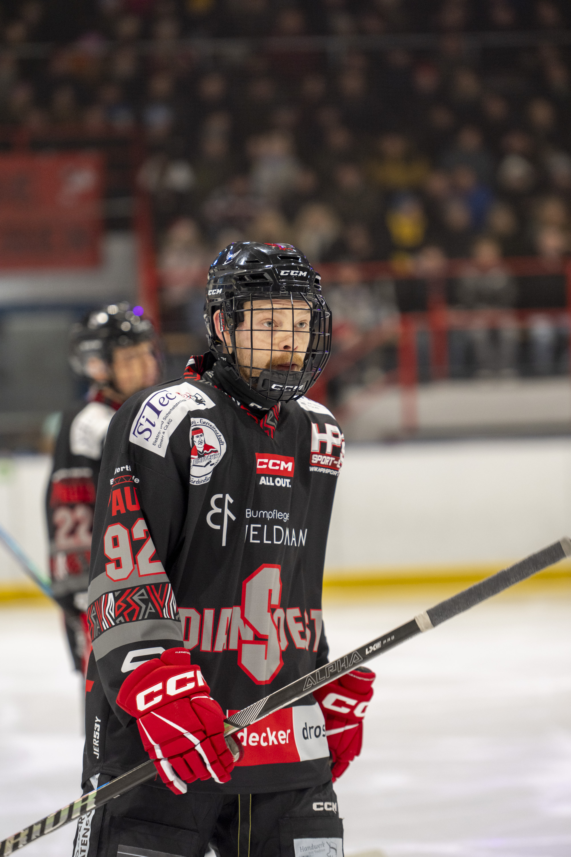
{"label": "white rink boards with yellow kick strip behind the players", "polygon": [[[0,525],[42,569],[50,466],[42,455],[0,457]],[[474,578],[569,530],[571,438],[348,445],[325,573],[330,581]],[[0,596],[27,585],[0,544]]]}

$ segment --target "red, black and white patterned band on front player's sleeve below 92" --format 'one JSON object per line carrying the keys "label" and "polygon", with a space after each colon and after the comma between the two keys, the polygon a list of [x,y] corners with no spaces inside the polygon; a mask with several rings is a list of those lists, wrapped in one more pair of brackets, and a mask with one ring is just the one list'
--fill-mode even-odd
{"label": "red, black and white patterned band on front player's sleeve below 92", "polygon": [[92,642],[110,628],[147,619],[179,620],[170,583],[105,592],[87,608],[87,627]]}

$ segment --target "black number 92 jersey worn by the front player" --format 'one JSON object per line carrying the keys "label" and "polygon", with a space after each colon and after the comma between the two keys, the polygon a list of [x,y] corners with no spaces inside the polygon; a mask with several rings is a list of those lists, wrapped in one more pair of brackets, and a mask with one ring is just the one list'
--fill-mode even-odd
{"label": "black number 92 jersey worn by the front player", "polygon": [[[190,650],[229,714],[327,661],[322,577],[343,453],[336,420],[309,399],[262,421],[195,376],[122,405],[93,526],[84,782],[146,760],[116,694],[165,649]],[[239,735],[231,781],[189,789],[279,791],[330,777],[311,696]]]}

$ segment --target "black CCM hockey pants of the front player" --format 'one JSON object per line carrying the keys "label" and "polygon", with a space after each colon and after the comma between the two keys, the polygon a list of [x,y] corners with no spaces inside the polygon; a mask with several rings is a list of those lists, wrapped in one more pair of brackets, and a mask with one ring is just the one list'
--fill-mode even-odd
{"label": "black CCM hockey pants of the front player", "polygon": [[217,857],[342,857],[342,838],[331,782],[229,795],[145,783],[80,819],[74,857],[203,857],[209,842]]}

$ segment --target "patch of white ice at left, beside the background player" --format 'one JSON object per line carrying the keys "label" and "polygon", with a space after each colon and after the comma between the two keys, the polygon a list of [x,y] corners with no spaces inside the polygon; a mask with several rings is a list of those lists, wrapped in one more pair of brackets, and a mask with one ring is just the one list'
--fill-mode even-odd
{"label": "patch of white ice at left, beside the background player", "polygon": [[[3,839],[80,796],[83,737],[80,676],[57,610],[1,609],[0,652]],[[26,854],[71,857],[73,839],[68,824],[28,845]]]}

